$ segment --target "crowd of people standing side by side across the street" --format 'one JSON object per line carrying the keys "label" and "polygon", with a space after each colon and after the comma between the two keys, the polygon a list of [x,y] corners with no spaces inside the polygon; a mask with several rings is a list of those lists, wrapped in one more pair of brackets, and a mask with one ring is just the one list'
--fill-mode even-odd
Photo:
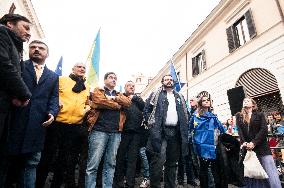
{"label": "crowd of people standing side by side across the street", "polygon": [[[280,113],[268,114],[268,126],[255,101],[245,98],[222,124],[209,96],[187,104],[171,75],[146,101],[133,81],[116,91],[115,72],[90,91],[85,65],[59,77],[47,68],[49,49],[40,40],[29,43],[23,61],[30,28],[18,14],[0,19],[1,188],[42,188],[49,172],[50,187],[132,188],[140,170],[142,188],[161,182],[165,188],[281,187],[267,142],[268,130],[282,123]],[[243,177],[241,150],[256,152],[268,179]]]}

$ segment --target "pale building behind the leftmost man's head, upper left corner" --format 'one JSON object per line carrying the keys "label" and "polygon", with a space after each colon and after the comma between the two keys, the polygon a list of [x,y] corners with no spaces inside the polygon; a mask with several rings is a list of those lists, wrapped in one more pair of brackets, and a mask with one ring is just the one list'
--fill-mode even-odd
{"label": "pale building behind the leftmost man's head, upper left corner", "polygon": [[[30,41],[44,38],[43,29],[30,0],[0,0],[0,17],[8,13],[23,15],[33,23]],[[27,46],[24,43],[24,59],[28,58]]]}

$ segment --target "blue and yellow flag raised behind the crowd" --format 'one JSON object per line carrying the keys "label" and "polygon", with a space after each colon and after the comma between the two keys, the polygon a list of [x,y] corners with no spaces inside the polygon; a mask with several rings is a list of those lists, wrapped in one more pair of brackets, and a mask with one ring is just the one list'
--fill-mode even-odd
{"label": "blue and yellow flag raised behind the crowd", "polygon": [[87,82],[91,87],[98,86],[99,83],[99,62],[100,62],[100,29],[93,42],[91,51],[87,59],[88,71]]}

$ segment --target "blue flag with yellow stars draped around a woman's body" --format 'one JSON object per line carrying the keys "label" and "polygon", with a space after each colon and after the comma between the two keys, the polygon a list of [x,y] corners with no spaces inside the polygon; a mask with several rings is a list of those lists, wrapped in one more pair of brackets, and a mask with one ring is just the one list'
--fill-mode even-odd
{"label": "blue flag with yellow stars draped around a woman's body", "polygon": [[204,115],[195,112],[190,120],[189,129],[190,134],[193,131],[192,141],[196,154],[202,158],[216,159],[218,132],[225,132],[218,118],[211,112]]}

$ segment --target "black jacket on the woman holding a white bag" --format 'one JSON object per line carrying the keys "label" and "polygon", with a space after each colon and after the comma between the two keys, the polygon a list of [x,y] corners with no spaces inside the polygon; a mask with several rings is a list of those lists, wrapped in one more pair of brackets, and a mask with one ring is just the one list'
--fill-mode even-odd
{"label": "black jacket on the woman holding a white bag", "polygon": [[271,151],[267,142],[267,122],[262,112],[253,111],[250,119],[250,125],[243,122],[240,113],[236,114],[236,124],[240,136],[240,142],[253,142],[256,155],[271,155]]}

